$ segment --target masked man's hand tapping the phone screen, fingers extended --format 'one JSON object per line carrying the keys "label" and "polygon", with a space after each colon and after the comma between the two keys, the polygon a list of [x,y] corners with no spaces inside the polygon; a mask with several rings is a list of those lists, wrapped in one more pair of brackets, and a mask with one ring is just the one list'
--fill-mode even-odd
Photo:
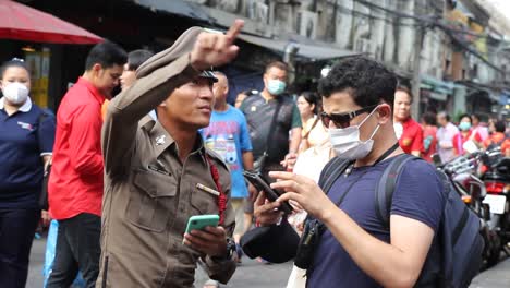
{"label": "masked man's hand tapping the phone screen, fingers extended", "polygon": [[271,183],[272,189],[281,189],[286,191],[277,202],[295,201],[308,214],[319,220],[324,220],[329,216],[330,212],[336,208],[329,197],[320,190],[314,180],[294,175],[291,172],[269,172],[271,178],[278,179],[277,182]]}

